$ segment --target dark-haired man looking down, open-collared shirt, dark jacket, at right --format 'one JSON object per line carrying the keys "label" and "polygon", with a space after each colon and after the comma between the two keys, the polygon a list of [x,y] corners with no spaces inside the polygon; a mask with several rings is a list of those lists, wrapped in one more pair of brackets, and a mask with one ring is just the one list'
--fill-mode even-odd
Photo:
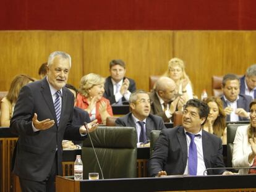
{"label": "dark-haired man looking down, open-collared shirt, dark jacket, at right", "polygon": [[221,100],[227,115],[227,121],[249,120],[249,104],[252,97],[239,94],[239,82],[239,78],[234,74],[227,74],[223,77],[221,85],[223,96],[221,96]]}

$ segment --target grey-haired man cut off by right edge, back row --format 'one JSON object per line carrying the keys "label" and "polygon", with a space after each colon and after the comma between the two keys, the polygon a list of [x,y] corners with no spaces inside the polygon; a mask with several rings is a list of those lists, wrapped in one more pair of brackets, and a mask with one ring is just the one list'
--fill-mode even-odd
{"label": "grey-haired man cut off by right edge, back row", "polygon": [[240,79],[240,94],[256,99],[256,64],[248,67],[245,75]]}

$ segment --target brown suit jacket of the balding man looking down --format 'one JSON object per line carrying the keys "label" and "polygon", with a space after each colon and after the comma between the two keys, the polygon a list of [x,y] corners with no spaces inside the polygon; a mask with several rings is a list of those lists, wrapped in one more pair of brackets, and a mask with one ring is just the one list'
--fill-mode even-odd
{"label": "brown suit jacket of the balding man looking down", "polygon": [[158,99],[158,96],[155,91],[152,91],[149,95],[150,100],[153,101],[151,104],[151,114],[158,115],[163,118],[164,122],[170,122],[170,120],[166,117],[166,114],[164,113],[161,103]]}

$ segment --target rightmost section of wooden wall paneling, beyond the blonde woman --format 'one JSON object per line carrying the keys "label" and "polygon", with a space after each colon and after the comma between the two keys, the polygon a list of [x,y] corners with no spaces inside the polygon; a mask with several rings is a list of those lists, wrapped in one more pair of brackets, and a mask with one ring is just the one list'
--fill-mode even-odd
{"label": "rightmost section of wooden wall paneling, beyond the blonde woman", "polygon": [[211,77],[244,74],[256,60],[255,31],[174,31],[174,56],[186,62],[186,72],[200,97],[211,94]]}

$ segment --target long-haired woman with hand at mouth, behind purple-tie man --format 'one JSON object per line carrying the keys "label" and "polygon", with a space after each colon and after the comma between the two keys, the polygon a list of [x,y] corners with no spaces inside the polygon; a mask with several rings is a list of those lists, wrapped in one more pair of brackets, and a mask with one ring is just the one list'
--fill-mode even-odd
{"label": "long-haired woman with hand at mouth, behind purple-tie man", "polygon": [[203,130],[220,137],[222,143],[227,144],[226,114],[221,99],[209,97],[205,99],[205,102],[208,104],[210,112],[203,125]]}

